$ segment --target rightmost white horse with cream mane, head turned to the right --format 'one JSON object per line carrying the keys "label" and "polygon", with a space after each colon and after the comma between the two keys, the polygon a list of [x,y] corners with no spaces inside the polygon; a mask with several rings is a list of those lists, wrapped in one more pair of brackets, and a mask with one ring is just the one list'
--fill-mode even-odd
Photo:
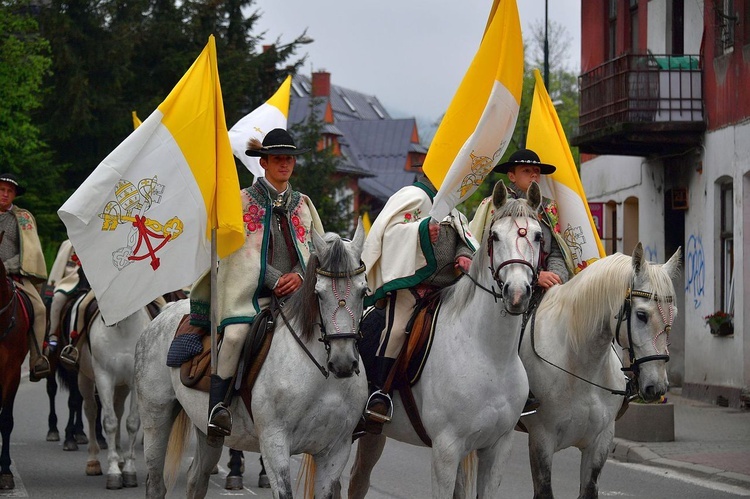
{"label": "rightmost white horse with cream mane, head turned to the right", "polygon": [[[554,286],[526,325],[521,359],[541,402],[524,417],[534,497],[552,497],[552,456],[581,450],[579,498],[598,497],[599,474],[624,398],[658,400],[668,387],[669,332],[677,315],[671,277],[680,250],[664,265],[647,262],[640,243],[628,257],[594,262]],[[629,352],[637,388],[627,383],[617,342]],[[627,386],[627,388],[626,388]]]}

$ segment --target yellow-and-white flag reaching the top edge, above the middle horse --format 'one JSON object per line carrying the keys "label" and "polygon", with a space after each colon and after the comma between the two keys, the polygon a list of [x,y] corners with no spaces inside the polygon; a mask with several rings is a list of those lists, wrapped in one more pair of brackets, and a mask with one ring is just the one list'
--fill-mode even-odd
{"label": "yellow-and-white flag reaching the top edge, above the middle horse", "polygon": [[516,0],[495,0],[474,60],[435,133],[424,170],[438,188],[430,215],[443,219],[502,157],[518,118],[523,41]]}

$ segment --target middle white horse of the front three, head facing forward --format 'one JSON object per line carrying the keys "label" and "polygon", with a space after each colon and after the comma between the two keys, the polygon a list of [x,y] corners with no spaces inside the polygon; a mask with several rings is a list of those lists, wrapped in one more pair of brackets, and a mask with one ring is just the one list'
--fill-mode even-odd
{"label": "middle white horse of the front three, head facing forward", "polygon": [[[454,497],[454,489],[462,496],[463,488],[456,486],[459,463],[475,450],[479,497],[498,496],[513,428],[528,394],[518,341],[520,314],[529,305],[537,277],[542,230],[536,210],[541,193],[534,183],[528,201],[507,199],[505,185],[498,182],[492,201],[495,214],[468,275],[443,292],[430,355],[413,387],[432,441],[435,498]],[[383,434],[359,439],[350,498],[367,493],[386,437],[425,445],[400,394],[394,394],[393,405],[392,421]]]}

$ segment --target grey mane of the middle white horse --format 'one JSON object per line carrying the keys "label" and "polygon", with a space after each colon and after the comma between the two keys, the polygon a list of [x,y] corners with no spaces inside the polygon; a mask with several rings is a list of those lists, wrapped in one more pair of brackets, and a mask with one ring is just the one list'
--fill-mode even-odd
{"label": "grey mane of the middle white horse", "polygon": [[[522,198],[508,198],[508,200],[500,207],[495,209],[492,214],[492,218],[488,224],[485,224],[484,230],[482,231],[482,241],[474,252],[472,258],[471,267],[469,267],[468,275],[471,279],[459,279],[450,286],[447,286],[441,290],[442,300],[455,300],[455,311],[459,311],[465,308],[469,301],[473,298],[474,292],[477,287],[472,281],[480,281],[481,273],[485,272],[489,267],[487,261],[489,255],[487,254],[487,245],[489,244],[490,227],[495,222],[504,217],[513,218],[526,218],[530,217],[536,219],[536,210],[532,208],[526,199]],[[494,284],[494,282],[492,283]]]}

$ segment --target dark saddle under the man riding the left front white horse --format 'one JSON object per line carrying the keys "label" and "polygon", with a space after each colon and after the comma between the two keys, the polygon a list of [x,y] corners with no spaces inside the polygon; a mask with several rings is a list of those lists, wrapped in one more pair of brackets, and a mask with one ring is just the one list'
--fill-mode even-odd
{"label": "dark saddle under the man riding the left front white horse", "polygon": [[[252,417],[252,389],[258,378],[273,341],[276,314],[262,310],[253,321],[240,355],[234,391]],[[188,388],[208,393],[211,386],[211,335],[209,331],[190,324],[190,314],[180,320],[174,340],[169,347],[167,365],[180,368],[180,381]]]}

